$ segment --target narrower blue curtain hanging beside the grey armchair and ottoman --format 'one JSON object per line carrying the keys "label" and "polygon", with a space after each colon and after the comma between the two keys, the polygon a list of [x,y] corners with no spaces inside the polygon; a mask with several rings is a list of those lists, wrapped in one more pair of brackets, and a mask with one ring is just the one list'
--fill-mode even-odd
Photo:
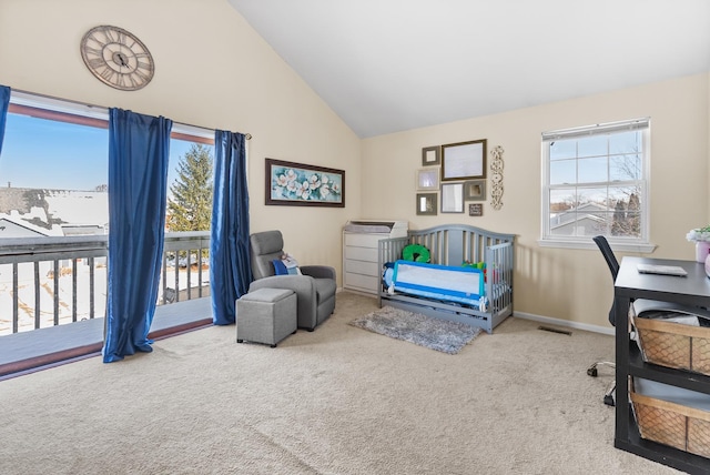
{"label": "narrower blue curtain hanging beside the grey armchair and ottoman", "polygon": [[210,283],[215,325],[235,322],[235,301],[252,282],[244,140],[242,133],[217,130],[214,134]]}

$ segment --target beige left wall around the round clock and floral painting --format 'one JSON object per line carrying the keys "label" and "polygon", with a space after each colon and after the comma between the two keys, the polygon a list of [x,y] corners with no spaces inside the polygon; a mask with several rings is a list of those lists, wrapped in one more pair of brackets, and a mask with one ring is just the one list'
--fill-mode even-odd
{"label": "beige left wall around the round clock and floral painting", "polygon": [[[148,87],[119,91],[87,70],[79,42],[98,24],[148,46]],[[0,84],[251,133],[252,231],[282,230],[300,262],[339,275],[342,226],[359,215],[359,139],[226,0],[2,0]],[[345,170],[347,208],[265,206],[265,158]]]}

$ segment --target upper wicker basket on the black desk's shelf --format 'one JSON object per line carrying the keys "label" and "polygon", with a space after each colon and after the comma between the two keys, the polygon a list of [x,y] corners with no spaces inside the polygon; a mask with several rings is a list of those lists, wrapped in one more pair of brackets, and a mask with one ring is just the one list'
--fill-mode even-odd
{"label": "upper wicker basket on the black desk's shelf", "polygon": [[710,327],[635,317],[643,361],[710,376]]}

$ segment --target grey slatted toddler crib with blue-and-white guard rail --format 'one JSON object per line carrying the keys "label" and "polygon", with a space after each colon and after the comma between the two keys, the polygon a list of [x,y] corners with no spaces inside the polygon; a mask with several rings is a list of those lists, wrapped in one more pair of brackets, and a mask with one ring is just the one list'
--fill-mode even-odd
{"label": "grey slatted toddler crib with blue-and-white guard rail", "polygon": [[379,306],[493,333],[513,314],[514,245],[515,234],[465,224],[409,230],[407,238],[379,240]]}

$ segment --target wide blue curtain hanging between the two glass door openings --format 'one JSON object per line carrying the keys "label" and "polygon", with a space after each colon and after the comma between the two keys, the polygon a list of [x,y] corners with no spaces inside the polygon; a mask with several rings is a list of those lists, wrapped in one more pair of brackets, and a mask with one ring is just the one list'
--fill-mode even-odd
{"label": "wide blue curtain hanging between the two glass door openings", "polygon": [[109,303],[103,362],[151,352],[172,121],[109,111]]}

